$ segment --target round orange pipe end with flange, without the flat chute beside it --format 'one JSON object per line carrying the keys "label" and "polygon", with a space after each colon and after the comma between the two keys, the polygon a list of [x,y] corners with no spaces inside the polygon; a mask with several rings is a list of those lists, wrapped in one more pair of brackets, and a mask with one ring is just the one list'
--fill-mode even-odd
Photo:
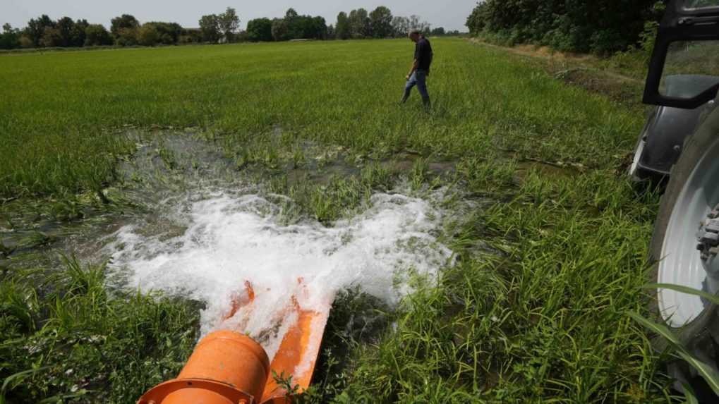
{"label": "round orange pipe end with flange, without the flat chute beside it", "polygon": [[200,341],[176,379],[152,388],[137,404],[258,403],[269,374],[270,359],[260,344],[217,331]]}

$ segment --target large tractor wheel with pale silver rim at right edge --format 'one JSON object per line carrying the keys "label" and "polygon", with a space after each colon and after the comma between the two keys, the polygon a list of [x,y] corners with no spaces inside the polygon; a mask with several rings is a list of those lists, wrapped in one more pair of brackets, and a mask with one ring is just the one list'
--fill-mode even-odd
{"label": "large tractor wheel with pale silver rim at right edge", "polygon": [[[719,291],[719,114],[712,114],[684,144],[654,227],[652,281]],[[697,295],[659,289],[651,309],[695,357],[715,369],[719,361],[719,311]],[[666,342],[657,337],[657,349]],[[688,364],[678,359],[669,374],[690,385],[702,402],[719,398]]]}

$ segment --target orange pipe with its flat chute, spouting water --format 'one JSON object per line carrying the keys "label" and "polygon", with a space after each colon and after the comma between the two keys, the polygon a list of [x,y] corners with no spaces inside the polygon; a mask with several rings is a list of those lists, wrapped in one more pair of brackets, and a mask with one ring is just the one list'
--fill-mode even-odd
{"label": "orange pipe with its flat chute, spouting water", "polygon": [[[300,285],[302,279],[298,279]],[[225,320],[255,301],[255,290],[246,282],[247,295],[233,298]],[[304,289],[304,288],[303,288]],[[306,289],[304,289],[306,292]],[[218,331],[200,341],[175,380],[153,388],[138,404],[290,404],[293,397],[274,377],[292,376],[298,394],[310,385],[330,306],[303,310],[295,296],[287,311],[297,322],[283,336],[272,363],[262,346],[233,331]]]}

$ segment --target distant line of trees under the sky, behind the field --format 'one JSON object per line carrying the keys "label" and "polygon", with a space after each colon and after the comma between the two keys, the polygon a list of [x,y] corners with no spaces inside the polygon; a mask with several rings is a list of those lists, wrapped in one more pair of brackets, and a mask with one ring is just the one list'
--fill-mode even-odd
{"label": "distant line of trees under the sky, behind the field", "polygon": [[228,7],[221,14],[208,14],[198,21],[199,28],[184,28],[175,22],[145,22],[141,24],[130,14],[111,20],[110,29],[102,24],[90,24],[86,19],[63,17],[50,19],[47,15],[30,19],[27,27],[13,28],[4,24],[0,34],[0,49],[34,47],[89,46],[155,46],[190,43],[260,42],[287,40],[349,40],[403,37],[411,30],[426,35],[459,35],[439,27],[431,29],[420,17],[395,17],[390,9],[379,6],[372,12],[355,9],[341,12],[335,24],[326,24],[323,17],[301,15],[288,9],[283,18],[258,18],[247,22],[245,31],[239,30],[237,11]]}

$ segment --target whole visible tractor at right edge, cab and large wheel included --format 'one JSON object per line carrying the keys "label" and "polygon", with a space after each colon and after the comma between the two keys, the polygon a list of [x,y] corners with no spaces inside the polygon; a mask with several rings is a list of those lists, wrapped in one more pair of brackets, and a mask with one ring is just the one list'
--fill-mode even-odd
{"label": "whole visible tractor at right edge, cab and large wheel included", "polygon": [[[659,24],[644,103],[656,106],[641,132],[630,175],[664,188],[651,239],[651,283],[719,292],[719,0],[670,0]],[[651,311],[693,357],[719,365],[719,308],[677,288],[652,290]],[[656,339],[657,349],[666,342]],[[668,365],[677,387],[702,402],[719,398],[694,367]]]}

